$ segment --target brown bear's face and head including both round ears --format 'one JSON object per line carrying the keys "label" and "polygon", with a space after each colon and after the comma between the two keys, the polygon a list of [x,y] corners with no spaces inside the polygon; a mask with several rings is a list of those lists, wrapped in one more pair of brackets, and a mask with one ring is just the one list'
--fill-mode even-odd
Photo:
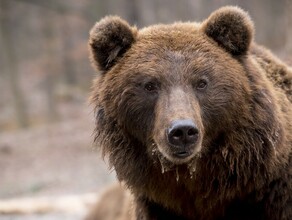
{"label": "brown bear's face and head including both round ears", "polygon": [[240,59],[251,36],[249,17],[229,7],[202,24],[137,31],[116,17],[97,23],[90,47],[102,71],[93,99],[103,142],[119,131],[173,164],[208,151],[248,120],[250,87]]}

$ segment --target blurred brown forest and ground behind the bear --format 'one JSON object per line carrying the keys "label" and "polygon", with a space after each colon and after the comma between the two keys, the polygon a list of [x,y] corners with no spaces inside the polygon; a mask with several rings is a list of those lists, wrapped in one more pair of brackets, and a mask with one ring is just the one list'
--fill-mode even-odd
{"label": "blurred brown forest and ground behind the bear", "polygon": [[97,20],[201,21],[224,5],[248,11],[256,41],[291,65],[292,0],[0,0],[0,200],[98,192],[113,181],[92,150],[87,103]]}

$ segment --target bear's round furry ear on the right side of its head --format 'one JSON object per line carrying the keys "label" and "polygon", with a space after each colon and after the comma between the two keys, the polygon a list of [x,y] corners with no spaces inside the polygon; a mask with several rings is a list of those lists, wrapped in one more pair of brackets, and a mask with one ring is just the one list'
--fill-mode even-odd
{"label": "bear's round furry ear on the right side of its head", "polygon": [[202,23],[202,30],[232,55],[245,54],[254,35],[253,22],[242,9],[222,7]]}

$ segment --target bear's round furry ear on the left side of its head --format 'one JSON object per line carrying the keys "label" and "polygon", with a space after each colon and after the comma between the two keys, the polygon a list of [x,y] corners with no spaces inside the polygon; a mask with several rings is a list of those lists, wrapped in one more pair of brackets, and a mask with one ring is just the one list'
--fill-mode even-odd
{"label": "bear's round furry ear on the left side of its head", "polygon": [[137,29],[116,16],[97,22],[90,31],[91,61],[98,70],[109,70],[134,43]]}

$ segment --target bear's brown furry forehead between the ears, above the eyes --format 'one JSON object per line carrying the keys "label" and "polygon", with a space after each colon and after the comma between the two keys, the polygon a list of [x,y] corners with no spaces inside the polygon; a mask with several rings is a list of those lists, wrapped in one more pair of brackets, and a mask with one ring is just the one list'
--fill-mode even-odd
{"label": "bear's brown furry forehead between the ears, above the eyes", "polygon": [[[120,63],[134,72],[186,73],[236,66],[231,55],[209,39],[197,23],[155,25],[139,31]],[[225,54],[225,55],[224,55]]]}

